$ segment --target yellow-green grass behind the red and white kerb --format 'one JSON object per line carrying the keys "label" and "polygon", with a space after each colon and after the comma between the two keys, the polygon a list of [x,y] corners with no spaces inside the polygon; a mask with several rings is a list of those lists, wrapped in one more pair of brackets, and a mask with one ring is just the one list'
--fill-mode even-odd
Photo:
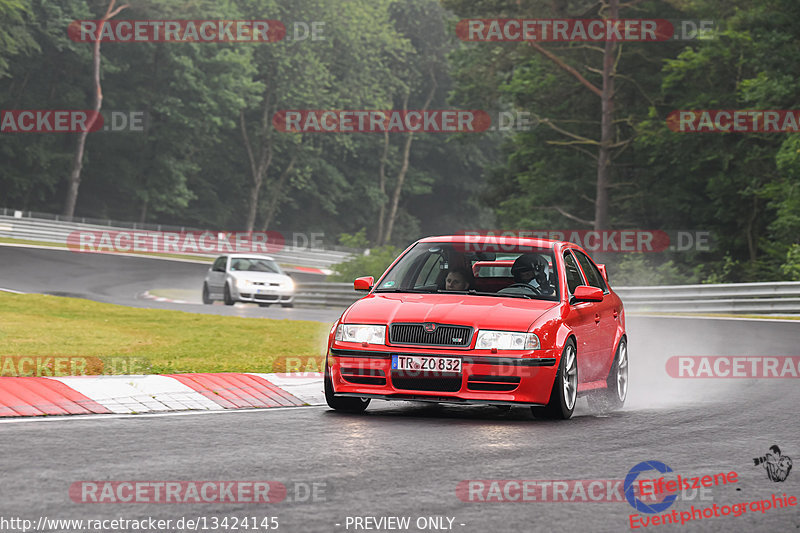
{"label": "yellow-green grass behind the red and white kerb", "polygon": [[[286,357],[313,358],[314,366],[325,353],[329,329],[319,322],[0,292],[0,358],[119,358],[136,370],[126,372],[122,363],[119,371],[102,373],[273,372],[287,370]],[[111,366],[106,361],[106,369]]]}

